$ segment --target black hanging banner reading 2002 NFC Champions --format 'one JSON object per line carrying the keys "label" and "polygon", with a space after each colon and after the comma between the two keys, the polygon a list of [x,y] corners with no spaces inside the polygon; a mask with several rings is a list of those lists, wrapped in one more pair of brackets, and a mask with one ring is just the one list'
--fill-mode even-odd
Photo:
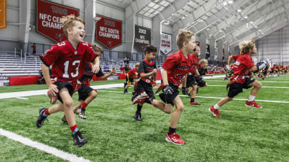
{"label": "black hanging banner reading 2002 NFC Champions", "polygon": [[135,37],[133,47],[136,50],[143,52],[144,47],[151,44],[151,29],[135,25],[134,30]]}

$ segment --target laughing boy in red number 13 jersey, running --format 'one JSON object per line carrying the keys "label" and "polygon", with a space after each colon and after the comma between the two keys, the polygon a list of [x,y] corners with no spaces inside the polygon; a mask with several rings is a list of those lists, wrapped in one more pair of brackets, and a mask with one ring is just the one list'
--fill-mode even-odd
{"label": "laughing boy in red number 13 jersey, running", "polygon": [[[48,93],[50,96],[57,97],[60,102],[51,108],[40,108],[36,126],[40,128],[48,115],[64,111],[67,123],[72,130],[74,144],[81,147],[87,143],[87,140],[83,138],[76,125],[72,95],[76,80],[83,75],[85,70],[85,62],[94,62],[92,71],[97,73],[99,58],[89,43],[83,42],[85,36],[83,19],[69,15],[63,17],[62,23],[63,32],[68,40],[53,45],[41,55],[43,76],[49,89]],[[50,65],[52,65],[52,78],[55,84],[52,84],[50,80]]]}

